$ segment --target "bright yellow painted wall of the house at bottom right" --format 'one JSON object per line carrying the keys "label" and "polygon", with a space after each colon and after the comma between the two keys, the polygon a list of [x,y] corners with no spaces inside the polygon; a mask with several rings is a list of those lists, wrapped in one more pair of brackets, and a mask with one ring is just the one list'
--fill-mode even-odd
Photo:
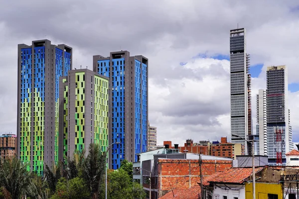
{"label": "bright yellow painted wall of the house at bottom right", "polygon": [[[252,183],[245,183],[245,199],[252,199]],[[283,199],[282,184],[256,183],[256,199],[268,199],[268,194],[277,194]]]}

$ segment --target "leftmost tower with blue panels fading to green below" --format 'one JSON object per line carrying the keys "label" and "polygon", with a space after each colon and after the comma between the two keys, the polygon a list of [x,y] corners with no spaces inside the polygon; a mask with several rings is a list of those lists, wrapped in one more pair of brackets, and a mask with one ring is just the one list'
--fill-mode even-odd
{"label": "leftmost tower with blue panels fading to green below", "polygon": [[72,48],[49,40],[18,44],[17,155],[43,175],[58,161],[59,77],[72,69]]}

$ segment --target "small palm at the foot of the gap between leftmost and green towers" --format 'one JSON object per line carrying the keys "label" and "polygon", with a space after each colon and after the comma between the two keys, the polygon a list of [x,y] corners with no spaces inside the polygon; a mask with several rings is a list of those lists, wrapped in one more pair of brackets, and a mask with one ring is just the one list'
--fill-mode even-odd
{"label": "small palm at the foot of the gap between leftmost and green towers", "polygon": [[48,165],[46,165],[44,170],[45,181],[48,184],[48,187],[51,191],[51,194],[55,193],[56,184],[58,180],[62,177],[62,162],[58,162],[58,164],[52,163],[52,168],[50,169]]}

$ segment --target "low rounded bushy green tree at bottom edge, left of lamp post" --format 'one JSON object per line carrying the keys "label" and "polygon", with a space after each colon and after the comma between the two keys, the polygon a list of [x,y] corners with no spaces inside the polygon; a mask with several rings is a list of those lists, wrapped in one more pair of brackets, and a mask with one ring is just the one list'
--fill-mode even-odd
{"label": "low rounded bushy green tree at bottom edge, left of lamp post", "polygon": [[50,199],[90,199],[90,192],[82,178],[69,181],[61,178],[57,182],[56,193]]}

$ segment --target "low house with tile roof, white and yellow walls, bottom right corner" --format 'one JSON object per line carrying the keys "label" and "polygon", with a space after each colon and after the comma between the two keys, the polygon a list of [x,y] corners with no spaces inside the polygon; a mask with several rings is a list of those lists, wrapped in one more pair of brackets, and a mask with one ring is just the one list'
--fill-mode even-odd
{"label": "low house with tile roof, white and yellow walls, bottom right corner", "polygon": [[[299,167],[260,166],[255,168],[256,199],[298,199]],[[204,184],[204,199],[252,199],[252,167],[231,168],[215,173]]]}

